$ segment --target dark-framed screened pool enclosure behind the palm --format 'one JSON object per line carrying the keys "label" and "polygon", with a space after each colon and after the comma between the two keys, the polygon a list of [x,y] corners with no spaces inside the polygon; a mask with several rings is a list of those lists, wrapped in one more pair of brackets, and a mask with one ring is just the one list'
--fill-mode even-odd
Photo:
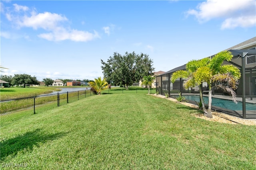
{"label": "dark-framed screened pool enclosure behind the palm", "polygon": [[[228,113],[243,119],[256,119],[256,49],[228,50],[232,53],[231,61],[224,64],[232,64],[240,69],[241,78],[236,90],[238,104],[232,101],[229,94],[219,89],[212,89],[212,109]],[[211,56],[211,57],[214,57]],[[186,97],[190,103],[197,104],[200,101],[199,87],[184,88],[186,79],[179,78],[172,83],[172,74],[177,70],[186,70],[186,64],[174,68],[164,74],[156,76],[156,90],[159,94],[169,94],[176,98],[179,93]],[[208,106],[208,84],[202,84],[204,103]]]}

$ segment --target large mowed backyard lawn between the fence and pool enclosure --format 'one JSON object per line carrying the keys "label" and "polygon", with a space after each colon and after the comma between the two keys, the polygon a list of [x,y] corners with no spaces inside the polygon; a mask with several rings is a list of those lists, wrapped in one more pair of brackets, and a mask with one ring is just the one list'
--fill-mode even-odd
{"label": "large mowed backyard lawn between the fence and pool enclosure", "polygon": [[146,94],[84,98],[1,127],[1,166],[256,169],[255,126],[196,114],[200,111]]}

